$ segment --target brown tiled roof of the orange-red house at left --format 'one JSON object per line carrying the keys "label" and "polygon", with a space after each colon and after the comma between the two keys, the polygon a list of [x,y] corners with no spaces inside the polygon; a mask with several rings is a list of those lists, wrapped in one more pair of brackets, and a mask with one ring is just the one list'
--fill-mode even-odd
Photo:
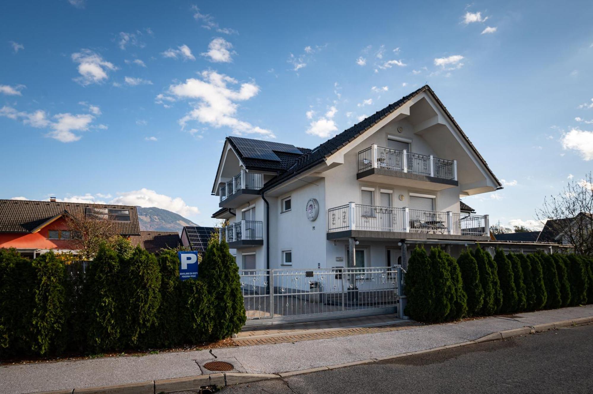
{"label": "brown tiled roof of the orange-red house at left", "polygon": [[0,199],[0,232],[33,232],[37,228],[63,214],[84,218],[85,208],[128,209],[130,221],[111,221],[121,235],[140,235],[138,212],[135,206],[82,204],[78,202],[4,200]]}

